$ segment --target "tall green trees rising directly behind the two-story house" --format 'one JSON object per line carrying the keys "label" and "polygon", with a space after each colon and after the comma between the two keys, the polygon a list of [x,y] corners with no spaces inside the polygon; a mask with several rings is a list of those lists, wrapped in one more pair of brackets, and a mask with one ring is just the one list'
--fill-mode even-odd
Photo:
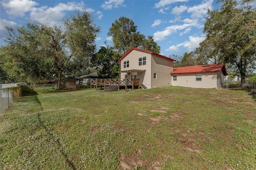
{"label": "tall green trees rising directly behind the two-story house", "polygon": [[134,22],[126,17],[120,17],[112,23],[108,36],[113,38],[114,48],[120,54],[125,54],[132,47],[160,53],[160,46],[154,42],[153,37],[146,38],[144,34],[137,32],[137,26],[134,26]]}

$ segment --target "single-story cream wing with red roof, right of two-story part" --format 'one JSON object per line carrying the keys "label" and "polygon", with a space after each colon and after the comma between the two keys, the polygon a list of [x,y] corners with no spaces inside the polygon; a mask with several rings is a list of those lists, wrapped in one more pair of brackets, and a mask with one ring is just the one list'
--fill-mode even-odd
{"label": "single-story cream wing with red roof, right of two-story part", "polygon": [[220,88],[224,87],[227,71],[225,64],[208,64],[175,67],[171,75],[172,86]]}

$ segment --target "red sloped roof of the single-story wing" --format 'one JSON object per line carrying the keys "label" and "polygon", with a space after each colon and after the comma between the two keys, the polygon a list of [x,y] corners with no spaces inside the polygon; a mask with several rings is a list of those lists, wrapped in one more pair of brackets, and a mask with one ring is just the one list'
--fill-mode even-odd
{"label": "red sloped roof of the single-story wing", "polygon": [[214,73],[223,71],[224,75],[227,75],[225,64],[206,64],[206,65],[194,65],[187,67],[175,67],[171,74],[186,74],[186,73]]}

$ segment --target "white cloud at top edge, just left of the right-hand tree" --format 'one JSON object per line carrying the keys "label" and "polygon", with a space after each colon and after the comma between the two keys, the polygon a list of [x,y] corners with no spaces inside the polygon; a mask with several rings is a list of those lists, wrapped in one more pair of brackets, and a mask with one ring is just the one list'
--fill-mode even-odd
{"label": "white cloud at top edge, just left of the right-hand tree", "polygon": [[202,18],[207,13],[207,10],[212,10],[213,0],[203,1],[200,5],[195,5],[188,8],[188,13],[191,13],[191,18]]}

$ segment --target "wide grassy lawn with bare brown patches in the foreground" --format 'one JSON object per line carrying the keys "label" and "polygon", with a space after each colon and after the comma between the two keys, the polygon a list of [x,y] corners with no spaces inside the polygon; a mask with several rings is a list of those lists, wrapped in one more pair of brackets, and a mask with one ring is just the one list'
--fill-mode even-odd
{"label": "wide grassy lawn with bare brown patches in the foreground", "polygon": [[163,87],[24,96],[0,115],[0,169],[256,169],[246,91]]}

